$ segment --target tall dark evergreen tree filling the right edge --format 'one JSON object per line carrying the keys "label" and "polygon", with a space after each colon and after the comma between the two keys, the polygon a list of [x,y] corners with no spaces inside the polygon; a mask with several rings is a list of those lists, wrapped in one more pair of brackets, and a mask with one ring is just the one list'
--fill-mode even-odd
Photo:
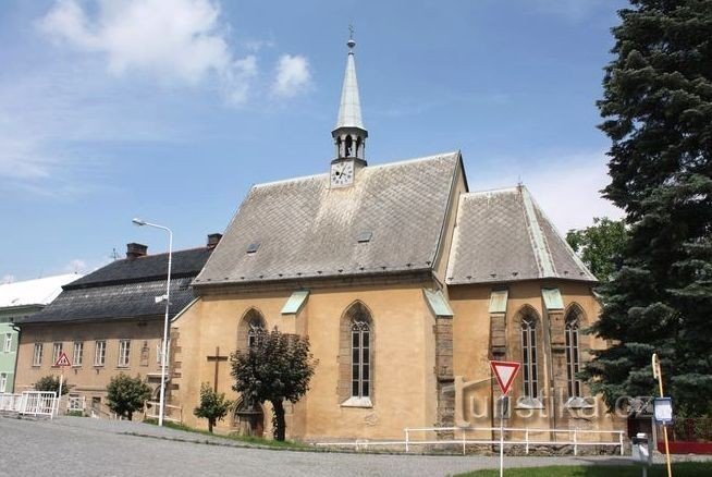
{"label": "tall dark evergreen tree filling the right edge", "polygon": [[612,346],[586,375],[612,407],[650,395],[650,357],[685,414],[712,402],[712,1],[630,0],[613,28],[599,108],[612,139],[604,196],[630,227],[593,327]]}

